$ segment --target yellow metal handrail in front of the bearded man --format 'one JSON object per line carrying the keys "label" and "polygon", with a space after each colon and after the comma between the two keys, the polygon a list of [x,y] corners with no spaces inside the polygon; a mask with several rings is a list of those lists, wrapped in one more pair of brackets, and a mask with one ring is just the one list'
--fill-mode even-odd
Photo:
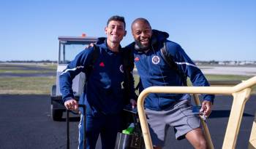
{"label": "yellow metal handrail in front of the bearded man", "polygon": [[[238,129],[241,124],[241,117],[244,111],[246,100],[249,99],[251,87],[256,84],[256,76],[243,81],[236,86],[151,86],[143,90],[138,97],[138,114],[140,118],[143,138],[147,149],[153,148],[151,137],[146,122],[144,111],[144,100],[150,93],[189,93],[189,94],[232,94],[233,105],[230,111],[230,118],[222,145],[223,149],[235,148]],[[238,109],[235,109],[238,108]]]}

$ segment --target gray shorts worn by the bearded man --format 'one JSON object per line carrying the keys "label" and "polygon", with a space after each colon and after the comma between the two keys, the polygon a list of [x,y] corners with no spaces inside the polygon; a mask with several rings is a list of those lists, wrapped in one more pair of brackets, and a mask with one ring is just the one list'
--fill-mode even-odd
{"label": "gray shorts worn by the bearded man", "polygon": [[155,146],[162,147],[164,145],[169,126],[173,126],[177,140],[184,139],[187,132],[200,127],[200,118],[192,113],[192,105],[189,100],[176,102],[167,110],[146,109],[145,111],[152,143]]}

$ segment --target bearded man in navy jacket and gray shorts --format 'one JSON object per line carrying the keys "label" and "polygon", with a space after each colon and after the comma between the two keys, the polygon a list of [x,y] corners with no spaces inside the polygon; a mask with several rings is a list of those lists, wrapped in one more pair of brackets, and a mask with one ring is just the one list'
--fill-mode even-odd
{"label": "bearded man in navy jacket and gray shorts", "polygon": [[[168,33],[152,30],[148,20],[138,18],[132,23],[135,42],[125,49],[133,52],[140,76],[140,92],[149,86],[186,86],[189,76],[193,86],[209,86],[206,77],[184,52],[180,45],[167,40]],[[161,49],[173,59],[176,68],[164,60]],[[184,78],[181,71],[186,76]],[[214,95],[205,94],[200,112],[211,113]],[[145,100],[146,116],[154,148],[164,145],[166,130],[173,126],[176,139],[187,138],[194,148],[206,148],[206,139],[200,128],[199,116],[192,113],[189,94],[149,94]]]}

